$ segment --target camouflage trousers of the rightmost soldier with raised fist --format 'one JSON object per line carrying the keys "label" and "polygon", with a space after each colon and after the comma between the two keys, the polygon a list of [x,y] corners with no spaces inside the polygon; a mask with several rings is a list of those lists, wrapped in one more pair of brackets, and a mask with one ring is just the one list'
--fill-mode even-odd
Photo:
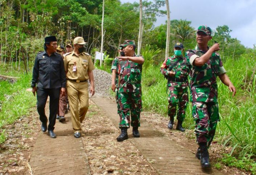
{"label": "camouflage trousers of the rightmost soldier with raised fist", "polygon": [[219,121],[217,102],[192,102],[192,116],[196,122],[195,134],[197,143],[207,143],[209,147]]}

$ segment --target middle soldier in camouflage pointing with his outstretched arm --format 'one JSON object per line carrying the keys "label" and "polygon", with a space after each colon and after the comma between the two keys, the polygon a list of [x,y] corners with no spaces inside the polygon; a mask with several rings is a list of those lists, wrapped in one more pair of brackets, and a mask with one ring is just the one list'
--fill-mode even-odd
{"label": "middle soldier in camouflage pointing with his outstretched arm", "polygon": [[[120,123],[121,134],[117,141],[121,142],[128,139],[127,128],[132,126],[132,134],[139,137],[140,112],[142,111],[142,91],[141,91],[141,73],[144,58],[135,55],[135,42],[125,40],[123,44],[125,56],[118,56],[120,61],[120,85],[118,90],[118,102],[120,106]],[[131,121],[130,121],[131,114]]]}

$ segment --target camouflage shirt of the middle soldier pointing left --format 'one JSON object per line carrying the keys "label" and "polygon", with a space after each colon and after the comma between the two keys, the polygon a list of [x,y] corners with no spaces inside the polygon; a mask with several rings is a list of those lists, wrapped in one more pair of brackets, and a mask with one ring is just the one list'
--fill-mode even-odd
{"label": "camouflage shirt of the middle soldier pointing left", "polygon": [[[142,57],[134,55],[134,57]],[[142,63],[143,64],[143,63]],[[142,64],[133,61],[120,61],[120,87],[119,92],[136,92],[141,91],[141,73]]]}

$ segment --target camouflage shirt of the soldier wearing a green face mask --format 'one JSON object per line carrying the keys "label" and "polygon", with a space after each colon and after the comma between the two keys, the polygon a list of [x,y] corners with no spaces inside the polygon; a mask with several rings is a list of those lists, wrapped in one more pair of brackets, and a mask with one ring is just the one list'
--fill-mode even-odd
{"label": "camouflage shirt of the soldier wearing a green face mask", "polygon": [[[187,87],[188,86],[188,74],[189,74],[189,65],[187,63],[187,59],[185,57],[182,57],[182,59],[176,64],[176,66],[174,66],[172,68],[172,70],[169,70],[170,67],[172,67],[172,65],[174,63],[176,63],[176,61],[178,61],[178,59],[180,59],[179,57],[175,57],[175,55],[168,57],[165,59],[165,61],[163,62],[160,71],[163,75],[167,75],[169,71],[173,71],[175,73],[174,77],[171,77],[170,80],[168,82],[168,86],[174,86],[174,87]],[[172,78],[176,78],[176,79],[184,79],[183,82],[173,82]]]}

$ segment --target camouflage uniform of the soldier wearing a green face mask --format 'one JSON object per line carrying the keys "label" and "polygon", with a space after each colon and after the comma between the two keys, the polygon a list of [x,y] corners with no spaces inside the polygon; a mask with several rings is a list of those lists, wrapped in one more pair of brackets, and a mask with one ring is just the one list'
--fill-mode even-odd
{"label": "camouflage uniform of the soldier wearing a green face mask", "polygon": [[[162,66],[161,73],[168,76],[169,68],[179,59],[175,55],[167,58]],[[176,114],[176,106],[178,104],[177,120],[183,121],[185,119],[185,111],[188,104],[188,63],[185,57],[177,63],[172,69],[175,73],[174,77],[168,79],[168,116],[174,117]]]}

